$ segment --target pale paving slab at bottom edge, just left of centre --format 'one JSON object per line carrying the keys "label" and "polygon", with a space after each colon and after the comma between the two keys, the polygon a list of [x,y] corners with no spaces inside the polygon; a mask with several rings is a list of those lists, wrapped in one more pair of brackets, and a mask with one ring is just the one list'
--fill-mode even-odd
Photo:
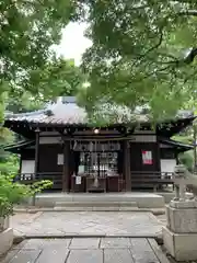
{"label": "pale paving slab at bottom edge, just left of centre", "polygon": [[67,263],[103,263],[102,250],[72,250]]}

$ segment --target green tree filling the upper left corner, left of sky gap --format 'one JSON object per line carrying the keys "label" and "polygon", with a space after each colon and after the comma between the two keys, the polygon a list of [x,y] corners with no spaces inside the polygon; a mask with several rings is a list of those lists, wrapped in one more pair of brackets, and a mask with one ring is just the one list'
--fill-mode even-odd
{"label": "green tree filling the upper left corner, left of sky gap", "polygon": [[[72,15],[74,3],[70,0],[0,2],[1,107],[4,92],[37,92],[32,71],[42,68],[51,57],[51,45],[59,43],[61,28]],[[1,118],[2,113],[0,108]]]}

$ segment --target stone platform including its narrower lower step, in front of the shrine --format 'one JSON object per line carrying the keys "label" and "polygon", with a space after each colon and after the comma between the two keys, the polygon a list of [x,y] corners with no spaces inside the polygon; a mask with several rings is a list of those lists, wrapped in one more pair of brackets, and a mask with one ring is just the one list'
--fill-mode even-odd
{"label": "stone platform including its narrower lower step, in front of the shrine", "polygon": [[36,196],[36,206],[57,210],[132,210],[134,208],[163,208],[164,197],[153,193],[65,194],[47,193]]}

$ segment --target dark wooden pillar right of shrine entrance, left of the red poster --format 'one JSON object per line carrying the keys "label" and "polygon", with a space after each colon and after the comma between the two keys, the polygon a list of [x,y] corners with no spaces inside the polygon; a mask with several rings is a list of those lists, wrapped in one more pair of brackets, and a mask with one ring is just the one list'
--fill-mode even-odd
{"label": "dark wooden pillar right of shrine entrance, left of the red poster", "polygon": [[130,147],[129,147],[128,140],[124,141],[124,171],[125,171],[126,191],[131,192]]}

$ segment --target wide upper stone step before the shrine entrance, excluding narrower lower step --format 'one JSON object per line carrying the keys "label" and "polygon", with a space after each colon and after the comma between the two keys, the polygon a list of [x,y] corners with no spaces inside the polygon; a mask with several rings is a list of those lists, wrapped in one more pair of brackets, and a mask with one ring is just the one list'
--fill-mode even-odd
{"label": "wide upper stone step before the shrine entrance, excluding narrower lower step", "polygon": [[[137,206],[139,208],[164,208],[164,197],[153,193],[103,193],[103,194],[88,194],[88,193],[53,193],[36,195],[36,206],[39,207],[55,207],[55,206]],[[65,203],[63,205],[61,205]],[[68,205],[68,203],[71,205]],[[101,205],[99,205],[101,203]],[[94,205],[95,204],[95,205]],[[114,204],[114,205],[113,205]]]}

